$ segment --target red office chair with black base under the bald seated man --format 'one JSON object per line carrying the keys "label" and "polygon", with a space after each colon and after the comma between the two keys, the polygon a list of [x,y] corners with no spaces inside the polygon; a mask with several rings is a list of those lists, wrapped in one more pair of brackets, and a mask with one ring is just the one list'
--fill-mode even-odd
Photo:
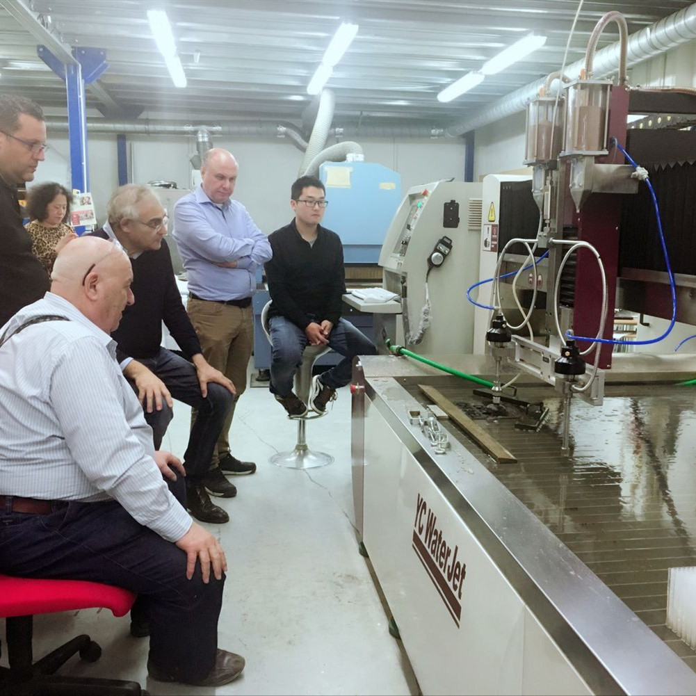
{"label": "red office chair with black base under the bald seated man", "polygon": [[88,635],[78,635],[36,663],[33,663],[31,651],[33,615],[104,607],[111,609],[114,616],[123,616],[133,606],[135,598],[132,592],[100,583],[10,578],[0,574],[0,617],[6,618],[10,665],[9,669],[0,667],[0,694],[144,694],[136,681],[51,676],[77,652],[89,662],[100,658],[102,649]]}

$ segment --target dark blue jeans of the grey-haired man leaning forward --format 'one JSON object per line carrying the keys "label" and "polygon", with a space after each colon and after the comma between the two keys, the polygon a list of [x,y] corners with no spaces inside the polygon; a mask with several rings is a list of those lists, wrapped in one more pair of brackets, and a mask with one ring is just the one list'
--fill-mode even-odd
{"label": "dark blue jeans of the grey-haired man leaning forward", "polygon": [[[208,395],[204,399],[200,393],[196,367],[166,348],[159,349],[154,358],[142,358],[138,362],[143,363],[164,382],[173,399],[196,409],[189,446],[184,452],[184,468],[189,479],[200,478],[210,468],[217,439],[232,408],[234,397],[220,384],[209,383]],[[137,394],[135,384],[131,383],[131,386]],[[161,411],[145,411],[145,420],[152,428],[155,450],[159,450],[172,418],[173,411],[166,402],[162,404]]]}

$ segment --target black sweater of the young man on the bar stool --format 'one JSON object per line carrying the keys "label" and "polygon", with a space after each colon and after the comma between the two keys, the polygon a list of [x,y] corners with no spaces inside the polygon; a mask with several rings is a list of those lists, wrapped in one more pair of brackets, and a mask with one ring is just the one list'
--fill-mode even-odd
{"label": "black sweater of the young man on the bar stool", "polygon": [[297,231],[295,221],[269,235],[273,258],[266,262],[271,294],[269,317],[283,316],[305,329],[313,319],[335,324],[341,316],[346,291],[343,245],[331,230],[318,227],[310,246]]}

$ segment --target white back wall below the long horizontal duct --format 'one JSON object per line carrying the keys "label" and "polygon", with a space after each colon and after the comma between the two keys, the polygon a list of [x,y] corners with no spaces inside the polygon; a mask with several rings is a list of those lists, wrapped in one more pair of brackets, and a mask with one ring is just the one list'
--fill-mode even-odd
{"label": "white back wall below the long horizontal duct", "polygon": [[[49,132],[54,155],[70,159],[65,132]],[[358,139],[365,161],[382,164],[402,176],[402,192],[410,187],[439,179],[464,179],[466,147],[461,138],[452,139]],[[191,165],[196,152],[194,136],[128,136],[134,182],[171,180],[188,189]],[[333,144],[333,141],[327,145]],[[297,178],[303,153],[288,139],[213,138],[215,147],[226,148],[239,162],[235,198],[248,208],[264,232],[272,232],[292,219],[290,184]],[[116,136],[88,134],[90,184],[97,218],[104,219],[106,202],[118,186]],[[38,175],[40,171],[38,172]],[[37,181],[39,176],[37,175]],[[49,180],[47,178],[43,180]]]}

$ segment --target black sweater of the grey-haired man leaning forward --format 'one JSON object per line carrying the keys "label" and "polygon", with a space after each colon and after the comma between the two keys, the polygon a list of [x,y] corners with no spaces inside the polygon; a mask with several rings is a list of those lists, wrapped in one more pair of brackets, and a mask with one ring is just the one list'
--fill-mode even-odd
{"label": "black sweater of the grey-haired man leaning forward", "polygon": [[[109,239],[104,230],[92,232]],[[201,353],[200,341],[181,301],[174,278],[169,247],[164,239],[157,251],[143,251],[131,259],[135,303],[125,308],[118,329],[111,334],[118,347],[118,361],[124,358],[152,358],[162,342],[162,322],[187,357]]]}

